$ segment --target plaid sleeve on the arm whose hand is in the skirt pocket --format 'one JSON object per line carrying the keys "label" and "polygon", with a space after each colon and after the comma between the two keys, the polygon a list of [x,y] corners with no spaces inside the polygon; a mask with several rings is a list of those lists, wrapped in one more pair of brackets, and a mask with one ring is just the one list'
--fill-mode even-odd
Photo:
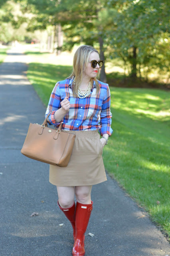
{"label": "plaid sleeve on the arm whose hand is in the skirt pocket", "polygon": [[105,98],[103,100],[103,104],[101,107],[101,114],[100,114],[101,128],[99,129],[99,132],[100,132],[101,136],[103,136],[103,134],[109,134],[109,136],[111,136],[111,134],[113,132],[113,130],[111,128],[112,113],[111,113],[110,107],[111,107],[111,93],[110,93],[109,86],[108,86],[106,94],[105,94]]}

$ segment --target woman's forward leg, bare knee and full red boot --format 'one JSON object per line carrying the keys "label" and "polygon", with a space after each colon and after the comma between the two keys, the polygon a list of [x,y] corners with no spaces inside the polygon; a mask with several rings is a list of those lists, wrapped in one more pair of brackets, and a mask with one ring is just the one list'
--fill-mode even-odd
{"label": "woman's forward leg, bare knee and full red boot", "polygon": [[77,199],[75,213],[75,242],[73,246],[73,256],[85,255],[84,240],[85,231],[89,223],[89,218],[93,208],[91,201],[92,186],[77,186],[75,187],[75,195]]}

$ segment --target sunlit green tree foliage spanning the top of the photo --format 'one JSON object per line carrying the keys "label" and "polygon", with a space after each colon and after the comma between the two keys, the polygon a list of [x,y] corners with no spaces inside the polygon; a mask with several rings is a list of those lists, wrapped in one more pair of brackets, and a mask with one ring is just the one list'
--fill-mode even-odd
{"label": "sunlit green tree foliage spanning the top of the photo", "polygon": [[[13,0],[14,1],[14,0]],[[59,49],[71,50],[75,44],[91,44],[111,60],[121,58],[126,73],[148,79],[155,70],[170,77],[169,8],[168,0],[15,0],[20,12],[10,12],[14,2],[4,1],[0,20],[18,28],[27,22],[27,30],[56,31],[58,24],[64,32],[64,44]],[[0,2],[2,4],[2,2]],[[8,6],[8,8],[7,8]],[[21,14],[22,11],[22,14]],[[6,31],[0,35],[8,41]],[[49,33],[50,34],[50,33]],[[14,33],[16,36],[16,33]],[[2,39],[0,39],[2,40]],[[12,38],[11,38],[12,40]],[[101,48],[99,42],[103,42]],[[164,79],[165,81],[165,79]]]}

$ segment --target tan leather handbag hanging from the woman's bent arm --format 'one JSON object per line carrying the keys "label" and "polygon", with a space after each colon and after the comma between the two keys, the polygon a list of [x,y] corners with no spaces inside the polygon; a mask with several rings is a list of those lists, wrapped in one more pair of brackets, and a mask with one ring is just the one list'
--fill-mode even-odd
{"label": "tan leather handbag hanging from the woman's bent arm", "polygon": [[65,167],[69,163],[75,135],[63,132],[62,124],[57,130],[47,127],[49,115],[42,125],[30,123],[21,153],[40,162]]}

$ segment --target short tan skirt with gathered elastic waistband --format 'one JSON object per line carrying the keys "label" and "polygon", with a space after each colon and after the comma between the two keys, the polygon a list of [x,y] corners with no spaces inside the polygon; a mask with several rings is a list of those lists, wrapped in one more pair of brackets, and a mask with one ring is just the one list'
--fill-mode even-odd
{"label": "short tan skirt with gathered elastic waistband", "polygon": [[67,167],[49,166],[49,182],[56,186],[89,186],[107,180],[98,131],[63,131],[76,135],[73,151]]}

